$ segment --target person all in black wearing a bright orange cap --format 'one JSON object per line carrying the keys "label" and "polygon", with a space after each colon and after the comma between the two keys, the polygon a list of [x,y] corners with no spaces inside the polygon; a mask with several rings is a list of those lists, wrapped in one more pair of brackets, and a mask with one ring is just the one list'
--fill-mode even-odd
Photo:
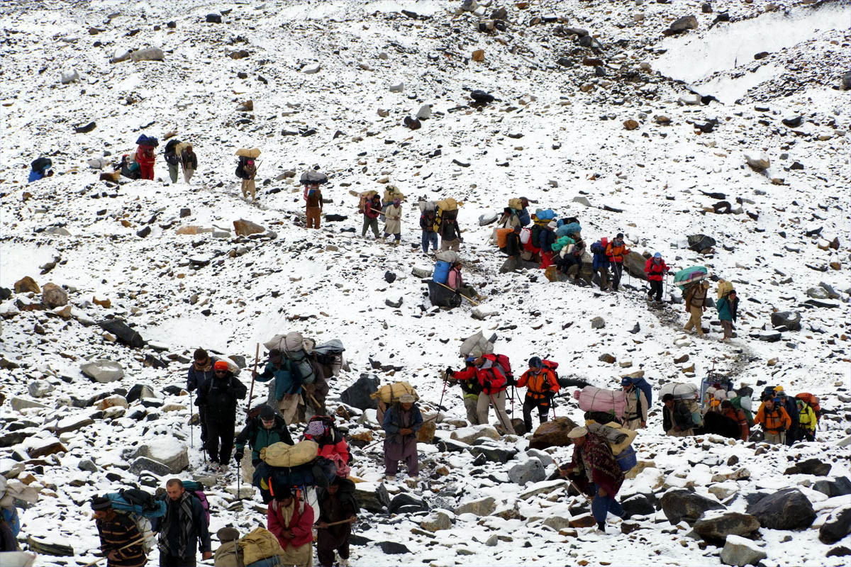
{"label": "person all in black wearing a bright orange cap", "polygon": [[207,421],[205,448],[210,467],[226,470],[233,449],[233,428],[237,421],[237,400],[244,400],[248,389],[228,368],[226,360],[213,365],[213,378],[198,388],[196,405],[206,405]]}

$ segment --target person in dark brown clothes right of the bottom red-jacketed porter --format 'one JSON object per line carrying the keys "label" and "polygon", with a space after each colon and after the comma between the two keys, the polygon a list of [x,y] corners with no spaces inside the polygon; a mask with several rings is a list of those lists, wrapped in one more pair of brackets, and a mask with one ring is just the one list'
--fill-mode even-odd
{"label": "person in dark brown clothes right of the bottom red-jacketed porter", "polygon": [[357,512],[360,510],[355,499],[355,483],[349,479],[335,477],[328,488],[318,490],[317,500],[319,501],[319,521],[317,522],[319,564],[322,567],[332,567],[334,551],[336,551],[340,555],[338,567],[347,567],[351,524],[357,520]]}

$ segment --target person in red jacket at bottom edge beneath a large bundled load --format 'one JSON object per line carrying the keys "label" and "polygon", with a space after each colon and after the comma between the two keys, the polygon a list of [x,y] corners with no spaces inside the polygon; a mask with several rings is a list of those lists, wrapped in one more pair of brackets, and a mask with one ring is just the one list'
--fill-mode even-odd
{"label": "person in red jacket at bottom edge beneath a large bundled load", "polygon": [[306,567],[313,557],[313,507],[298,502],[287,486],[274,490],[275,499],[266,510],[266,529],[281,544],[281,564]]}

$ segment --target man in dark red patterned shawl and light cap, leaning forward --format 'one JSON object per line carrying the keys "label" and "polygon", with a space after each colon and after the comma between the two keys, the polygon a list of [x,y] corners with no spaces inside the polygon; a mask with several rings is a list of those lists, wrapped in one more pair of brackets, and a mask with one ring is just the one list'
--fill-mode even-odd
{"label": "man in dark red patterned shawl and light cap, leaning forward", "polygon": [[624,508],[614,498],[624,482],[624,473],[606,439],[585,428],[571,429],[568,438],[574,441],[574,455],[568,467],[559,468],[558,473],[591,496],[591,514],[597,520],[597,530],[606,531],[609,512],[626,519]]}

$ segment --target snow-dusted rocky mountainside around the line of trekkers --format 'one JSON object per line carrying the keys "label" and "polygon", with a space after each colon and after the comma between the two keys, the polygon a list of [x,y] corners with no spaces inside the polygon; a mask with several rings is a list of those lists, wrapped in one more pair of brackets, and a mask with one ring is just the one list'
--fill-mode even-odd
{"label": "snow-dusted rocky mountainside around the line of trekkers", "polygon": [[[23,547],[87,564],[90,496],[204,478],[192,350],[251,366],[256,343],[297,330],[340,338],[351,366],[329,406],[351,417],[364,480],[352,564],[846,564],[849,17],[826,1],[3,3],[0,473],[38,492]],[[99,180],[143,132],[193,143],[191,185],[161,153],[154,181]],[[257,202],[240,147],[262,150]],[[26,184],[41,155],[56,174]],[[309,167],[330,178],[310,232]],[[399,247],[360,238],[350,194],[386,184],[408,197]],[[636,267],[620,294],[500,273],[479,219],[519,195],[579,217],[586,241],[622,231],[733,281],[738,336],[718,342],[714,316],[708,338],[684,335],[678,290],[648,309]],[[431,305],[420,196],[464,201],[477,308]],[[666,438],[654,409],[620,493],[634,515],[606,535],[550,479],[571,449],[466,428],[457,388],[419,484],[383,483],[374,410],[340,395],[362,374],[404,379],[434,415],[439,371],[478,330],[516,368],[545,355],[609,388],[716,371],[816,394],[825,417],[816,443],[785,448]],[[578,422],[566,394],[557,414]],[[232,473],[206,480],[213,530],[263,521]]]}

